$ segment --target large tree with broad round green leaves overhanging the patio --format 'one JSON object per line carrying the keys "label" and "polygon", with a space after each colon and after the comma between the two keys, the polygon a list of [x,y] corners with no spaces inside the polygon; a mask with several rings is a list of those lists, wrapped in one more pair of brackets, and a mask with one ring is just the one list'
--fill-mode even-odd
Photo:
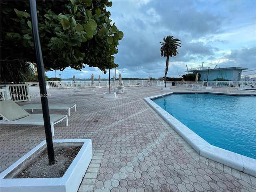
{"label": "large tree with broad round green leaves overhanging the patio", "polygon": [[[0,4],[1,65],[35,62],[29,1]],[[109,6],[107,0],[37,1],[45,69],[81,70],[88,64],[106,73],[116,68],[113,55],[124,34],[111,24]]]}

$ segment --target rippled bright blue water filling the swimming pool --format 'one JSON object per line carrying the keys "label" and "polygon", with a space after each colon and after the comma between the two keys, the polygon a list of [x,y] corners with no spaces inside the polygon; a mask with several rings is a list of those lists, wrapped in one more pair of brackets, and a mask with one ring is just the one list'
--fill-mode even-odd
{"label": "rippled bright blue water filling the swimming pool", "polygon": [[153,101],[208,143],[256,159],[256,96],[170,94]]}

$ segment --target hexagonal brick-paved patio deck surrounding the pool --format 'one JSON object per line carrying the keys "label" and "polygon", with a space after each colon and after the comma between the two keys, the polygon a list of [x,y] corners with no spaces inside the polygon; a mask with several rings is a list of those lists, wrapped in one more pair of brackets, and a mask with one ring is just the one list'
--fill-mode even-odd
{"label": "hexagonal brick-paved patio deck surrounding the pool", "polygon": [[[188,87],[170,88],[170,91],[188,91]],[[95,96],[84,93],[71,96],[70,89],[47,90],[49,103],[76,103],[77,108],[76,112],[71,109],[68,126],[65,122],[54,125],[54,139],[92,139],[94,155],[78,192],[256,192],[255,177],[198,155],[143,100],[169,91],[152,86],[131,87],[129,93],[104,99],[103,93],[109,89],[95,90]],[[235,88],[209,91],[255,94]],[[29,103],[40,103],[40,97],[18,104]],[[67,114],[67,111],[50,110],[50,114]],[[44,139],[43,126],[1,125],[0,171]]]}

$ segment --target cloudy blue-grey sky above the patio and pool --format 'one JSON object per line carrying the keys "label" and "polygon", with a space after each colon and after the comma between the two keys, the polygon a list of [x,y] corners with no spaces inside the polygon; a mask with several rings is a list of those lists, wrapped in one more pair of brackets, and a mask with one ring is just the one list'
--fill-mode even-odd
{"label": "cloudy blue-grey sky above the patio and pool", "polygon": [[[107,8],[110,19],[124,32],[115,56],[116,76],[160,78],[166,58],[160,42],[166,36],[178,38],[182,46],[169,59],[168,77],[187,74],[191,68],[244,67],[242,76],[256,77],[256,1],[172,1],[113,0]],[[98,68],[85,65],[82,71],[57,71],[61,78],[108,78]],[[115,70],[110,70],[113,77]],[[54,77],[54,72],[46,72]]]}

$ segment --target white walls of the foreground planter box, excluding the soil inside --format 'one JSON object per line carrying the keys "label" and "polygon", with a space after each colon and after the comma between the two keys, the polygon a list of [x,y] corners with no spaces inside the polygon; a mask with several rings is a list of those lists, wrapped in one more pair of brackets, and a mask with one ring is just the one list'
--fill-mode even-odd
{"label": "white walls of the foreground planter box, excluding the soil inside", "polygon": [[[63,139],[53,140],[54,146],[82,146],[65,174],[61,178],[12,178],[18,170],[22,170],[26,163],[44,148],[46,140],[25,154],[0,174],[1,192],[71,192],[77,191],[84,174],[92,160],[92,140],[90,139]],[[57,162],[56,162],[57,163]]]}

